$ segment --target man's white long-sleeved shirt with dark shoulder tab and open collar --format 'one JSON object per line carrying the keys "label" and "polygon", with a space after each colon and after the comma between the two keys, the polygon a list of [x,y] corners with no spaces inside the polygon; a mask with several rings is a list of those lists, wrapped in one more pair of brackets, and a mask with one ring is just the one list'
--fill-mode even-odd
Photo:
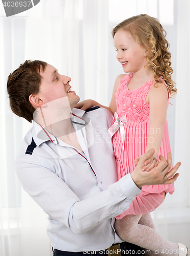
{"label": "man's white long-sleeved shirt with dark shoulder tab and open collar", "polygon": [[[122,242],[112,218],[128,209],[141,190],[130,174],[117,182],[113,145],[107,134],[113,120],[110,112],[99,108],[87,113],[73,109],[72,113],[79,116],[71,120],[84,153],[34,122],[16,158],[16,173],[24,190],[48,214],[47,234],[53,248],[106,249]],[[32,138],[36,147],[27,154]]]}

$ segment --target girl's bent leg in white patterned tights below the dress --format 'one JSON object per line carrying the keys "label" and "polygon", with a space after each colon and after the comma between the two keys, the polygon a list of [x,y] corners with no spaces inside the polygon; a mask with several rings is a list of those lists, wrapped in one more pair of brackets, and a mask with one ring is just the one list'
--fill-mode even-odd
{"label": "girl's bent leg in white patterned tights below the dress", "polygon": [[142,215],[126,215],[123,219],[116,220],[115,229],[120,238],[151,251],[158,250],[163,256],[178,256],[178,245],[162,238],[153,228],[139,224],[141,217]]}

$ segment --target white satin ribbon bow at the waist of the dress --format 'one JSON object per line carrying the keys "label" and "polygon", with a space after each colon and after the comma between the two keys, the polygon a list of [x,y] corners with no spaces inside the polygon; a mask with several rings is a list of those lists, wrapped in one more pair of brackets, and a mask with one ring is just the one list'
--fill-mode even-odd
{"label": "white satin ribbon bow at the waist of the dress", "polygon": [[117,112],[115,112],[114,117],[116,118],[115,122],[112,124],[112,126],[108,129],[108,132],[112,136],[120,129],[121,134],[121,140],[123,143],[122,150],[124,150],[124,144],[125,144],[125,129],[123,126],[123,122],[127,122],[127,116],[123,115],[119,118]]}

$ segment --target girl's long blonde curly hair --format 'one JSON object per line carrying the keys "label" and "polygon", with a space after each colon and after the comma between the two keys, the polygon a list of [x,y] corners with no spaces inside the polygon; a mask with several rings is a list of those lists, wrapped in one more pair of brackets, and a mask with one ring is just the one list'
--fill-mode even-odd
{"label": "girl's long blonde curly hair", "polygon": [[154,72],[153,81],[166,82],[170,95],[175,95],[177,89],[171,75],[171,53],[168,51],[170,45],[166,40],[166,31],[162,28],[158,19],[147,14],[141,14],[123,20],[112,31],[113,37],[118,30],[128,31],[133,39],[142,47],[148,50],[146,59],[148,66]]}

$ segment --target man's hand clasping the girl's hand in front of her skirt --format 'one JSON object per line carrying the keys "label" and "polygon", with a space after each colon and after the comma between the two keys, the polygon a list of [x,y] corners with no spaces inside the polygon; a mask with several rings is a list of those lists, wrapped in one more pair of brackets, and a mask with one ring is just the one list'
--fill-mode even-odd
{"label": "man's hand clasping the girl's hand in front of her skirt", "polygon": [[[175,174],[177,169],[181,165],[178,162],[171,170],[172,156],[171,153],[168,153],[167,160],[163,156],[159,156],[160,162],[157,166],[152,168],[149,172],[142,171],[143,166],[147,159],[150,159],[154,155],[154,149],[151,148],[148,152],[141,156],[137,166],[134,168],[131,173],[131,177],[134,183],[141,188],[144,185],[156,185],[156,184],[171,184],[173,183],[179,174]],[[170,170],[170,172],[169,172]],[[175,174],[175,175],[174,175]],[[167,176],[168,177],[167,177]],[[173,177],[173,178],[172,178]]]}

